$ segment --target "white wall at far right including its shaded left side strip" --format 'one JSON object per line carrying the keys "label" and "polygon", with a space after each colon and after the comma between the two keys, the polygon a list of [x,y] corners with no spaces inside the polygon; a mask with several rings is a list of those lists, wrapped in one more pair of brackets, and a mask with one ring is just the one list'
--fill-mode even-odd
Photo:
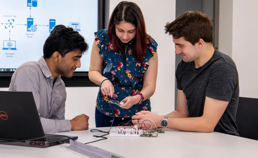
{"label": "white wall at far right including its shaded left side strip", "polygon": [[257,5],[258,1],[253,0],[220,1],[219,50],[232,50],[240,97],[258,98]]}

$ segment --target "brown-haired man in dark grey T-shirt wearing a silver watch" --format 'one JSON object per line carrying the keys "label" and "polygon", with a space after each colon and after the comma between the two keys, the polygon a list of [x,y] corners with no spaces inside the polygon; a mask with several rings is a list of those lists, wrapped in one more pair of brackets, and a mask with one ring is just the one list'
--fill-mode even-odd
{"label": "brown-haired man in dark grey T-shirt wearing a silver watch", "polygon": [[176,70],[177,110],[166,116],[141,111],[133,123],[151,119],[157,127],[190,132],[221,132],[239,136],[236,111],[239,79],[234,61],[212,46],[209,17],[187,11],[165,26],[173,36],[175,53],[183,60]]}

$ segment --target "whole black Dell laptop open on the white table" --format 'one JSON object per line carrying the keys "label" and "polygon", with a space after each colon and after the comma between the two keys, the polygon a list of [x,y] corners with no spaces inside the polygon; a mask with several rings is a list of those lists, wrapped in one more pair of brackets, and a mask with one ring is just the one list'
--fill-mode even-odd
{"label": "whole black Dell laptop open on the white table", "polygon": [[[0,91],[0,128],[0,144],[44,148],[70,142],[63,135],[44,134],[32,92]],[[36,140],[22,141],[28,139]]]}

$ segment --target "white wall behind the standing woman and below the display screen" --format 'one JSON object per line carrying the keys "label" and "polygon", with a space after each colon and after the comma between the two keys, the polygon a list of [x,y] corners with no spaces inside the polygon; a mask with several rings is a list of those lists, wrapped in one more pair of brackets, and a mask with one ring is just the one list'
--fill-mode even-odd
{"label": "white wall behind the standing woman and below the display screen", "polygon": [[[120,0],[110,0],[110,15]],[[159,69],[157,77],[157,88],[151,97],[152,111],[160,115],[174,111],[174,89],[175,89],[175,45],[172,37],[165,34],[166,22],[175,19],[175,0],[157,1],[134,0],[141,8],[147,33],[158,43]],[[165,3],[166,2],[166,3]],[[2,90],[8,90],[4,88]],[[95,127],[95,104],[98,87],[67,87],[66,119],[72,119],[77,115],[89,116],[89,127]],[[0,88],[1,91],[1,88]],[[77,98],[77,99],[75,99]]]}

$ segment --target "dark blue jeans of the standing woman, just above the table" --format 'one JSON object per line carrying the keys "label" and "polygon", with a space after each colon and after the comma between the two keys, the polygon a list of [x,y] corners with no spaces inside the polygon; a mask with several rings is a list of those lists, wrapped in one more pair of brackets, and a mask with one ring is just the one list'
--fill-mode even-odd
{"label": "dark blue jeans of the standing woman, just above the table", "polygon": [[[102,114],[101,112],[99,112],[99,110],[97,108],[95,108],[95,124],[96,124],[96,127],[110,127],[112,122],[113,122],[113,119],[114,119],[113,117]],[[121,126],[124,123],[129,122],[130,120],[132,120],[131,117],[130,118],[124,118],[123,120],[122,120],[122,118],[115,117],[114,123],[112,124],[112,126],[116,127],[119,124]],[[130,121],[129,123],[132,124],[132,126],[134,125],[132,123],[132,121]],[[130,124],[128,126],[130,126]]]}

